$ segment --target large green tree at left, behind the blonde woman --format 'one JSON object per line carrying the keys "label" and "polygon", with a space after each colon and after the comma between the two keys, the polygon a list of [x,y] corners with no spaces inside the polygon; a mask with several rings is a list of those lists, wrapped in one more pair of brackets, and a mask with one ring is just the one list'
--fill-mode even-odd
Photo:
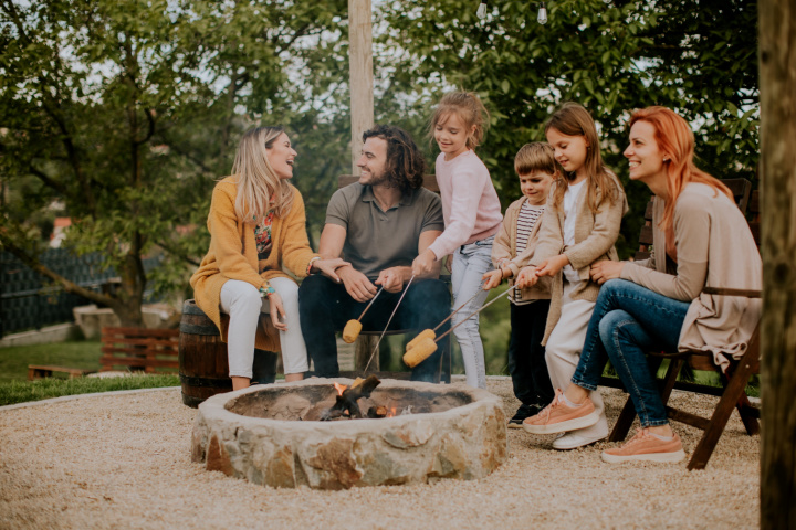
{"label": "large green tree at left, behind the blonde woman", "polygon": [[[0,0],[0,176],[17,198],[0,216],[2,247],[140,325],[147,283],[185,285],[206,251],[210,190],[242,130],[258,120],[317,130],[302,119],[338,70],[318,65],[345,4]],[[303,70],[311,88],[291,78]],[[115,294],[38,262],[30,221],[53,201],[73,220],[67,244],[117,272]],[[147,275],[142,256],[157,250],[164,263]]]}

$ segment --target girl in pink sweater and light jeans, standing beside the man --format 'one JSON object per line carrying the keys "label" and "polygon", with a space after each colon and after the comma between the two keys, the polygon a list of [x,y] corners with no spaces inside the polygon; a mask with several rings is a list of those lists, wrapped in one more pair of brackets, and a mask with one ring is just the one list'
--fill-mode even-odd
{"label": "girl in pink sweater and light jeans, standing beside the man", "polygon": [[[452,254],[453,307],[472,298],[468,307],[453,317],[452,326],[460,324],[486,299],[488,292],[481,289],[481,278],[492,269],[492,241],[503,220],[489,170],[473,151],[481,144],[488,123],[489,113],[483,103],[468,92],[447,94],[431,117],[430,130],[441,151],[436,172],[446,230],[415,259],[412,274],[427,274],[434,262]],[[459,326],[454,335],[461,348],[468,384],[485,388],[486,369],[478,315]]]}

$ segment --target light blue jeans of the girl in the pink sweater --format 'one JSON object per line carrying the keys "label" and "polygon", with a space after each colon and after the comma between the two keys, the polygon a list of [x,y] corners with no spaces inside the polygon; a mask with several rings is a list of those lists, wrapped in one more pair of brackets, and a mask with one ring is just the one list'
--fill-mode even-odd
{"label": "light blue jeans of the girl in the pink sweater", "polygon": [[[494,268],[492,266],[492,242],[494,236],[485,237],[462,245],[453,253],[453,266],[451,267],[451,284],[453,289],[453,309],[475,296],[467,307],[453,316],[452,326],[461,322],[464,317],[480,308],[489,292],[481,288],[481,278]],[[479,389],[486,388],[486,365],[483,357],[483,343],[479,332],[479,316],[469,318],[467,322],[453,330],[464,362],[464,374],[470,386]]]}

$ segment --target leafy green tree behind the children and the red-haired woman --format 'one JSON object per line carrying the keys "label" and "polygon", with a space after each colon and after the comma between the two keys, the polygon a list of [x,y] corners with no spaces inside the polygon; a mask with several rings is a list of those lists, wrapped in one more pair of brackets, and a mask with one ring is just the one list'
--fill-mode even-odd
{"label": "leafy green tree behind the children and the red-haired woman", "polygon": [[[565,100],[591,112],[604,156],[626,183],[625,123],[629,110],[648,105],[671,107],[691,121],[705,170],[754,176],[755,2],[553,0],[546,6],[549,20],[542,25],[535,1],[489,2],[483,20],[475,17],[476,3],[467,0],[385,3],[379,15],[388,30],[377,40],[376,64],[389,82],[377,119],[406,117],[417,126],[441,93],[479,92],[492,112],[480,155],[505,204],[520,195],[514,153],[527,141],[544,140],[545,120]],[[631,213],[618,242],[624,255],[633,250],[649,198],[645,187],[627,191]]]}

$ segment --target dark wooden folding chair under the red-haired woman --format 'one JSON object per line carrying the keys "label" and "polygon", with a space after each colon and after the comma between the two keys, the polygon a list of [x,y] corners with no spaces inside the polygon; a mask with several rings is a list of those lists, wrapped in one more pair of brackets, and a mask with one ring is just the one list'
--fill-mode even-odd
{"label": "dark wooden folding chair under the red-haired woman", "polygon": [[[752,184],[746,179],[726,179],[723,180],[735,195],[736,204],[742,212],[748,211],[750,229],[755,237],[755,242],[760,246],[760,201],[757,191],[750,194]],[[751,200],[750,200],[751,198]],[[640,247],[636,254],[637,259],[649,257],[649,245],[652,244],[652,206],[651,201],[645,213],[645,226],[641,230]],[[706,287],[705,293],[720,296],[744,296],[760,297],[760,292],[731,288]],[[689,469],[704,469],[708,460],[713,454],[719,438],[726,426],[733,409],[737,409],[741,420],[750,435],[760,433],[760,410],[752,406],[745,392],[750,378],[760,373],[760,324],[755,329],[748,342],[746,353],[737,361],[732,361],[727,373],[723,373],[714,363],[712,354],[702,351],[691,351],[685,353],[679,352],[649,352],[650,368],[658,370],[664,359],[670,359],[670,364],[664,378],[660,381],[661,399],[666,405],[667,416],[670,420],[685,423],[704,431],[696,448],[694,449],[691,460],[688,464]],[[677,381],[682,368],[688,363],[696,371],[718,372],[723,388],[708,386],[694,383],[683,383]],[[681,389],[690,392],[719,395],[720,400],[713,410],[710,418],[704,418],[669,405],[669,398],[673,389]],[[636,417],[636,410],[632,401],[628,398],[625,407],[619,414],[614,430],[608,439],[610,442],[619,442],[625,439],[630,426]]]}

